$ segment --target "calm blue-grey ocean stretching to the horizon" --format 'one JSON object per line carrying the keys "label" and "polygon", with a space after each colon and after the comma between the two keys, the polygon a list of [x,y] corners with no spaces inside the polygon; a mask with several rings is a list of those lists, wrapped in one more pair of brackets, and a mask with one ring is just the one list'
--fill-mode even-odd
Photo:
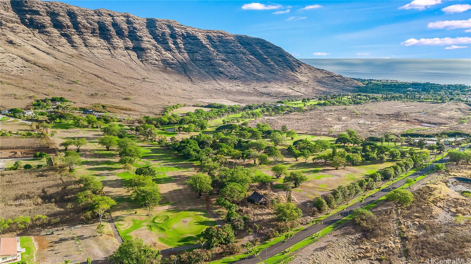
{"label": "calm blue-grey ocean stretching to the horizon", "polygon": [[471,59],[300,59],[350,78],[471,85]]}

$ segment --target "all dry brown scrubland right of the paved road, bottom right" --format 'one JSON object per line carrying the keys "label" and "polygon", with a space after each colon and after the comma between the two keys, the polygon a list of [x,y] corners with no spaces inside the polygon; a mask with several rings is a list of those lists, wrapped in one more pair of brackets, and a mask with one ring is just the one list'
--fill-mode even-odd
{"label": "all dry brown scrubland right of the paved road, bottom right", "polygon": [[[319,241],[298,251],[290,264],[402,264],[401,238],[407,263],[426,263],[427,258],[455,259],[471,256],[471,220],[463,223],[456,216],[471,216],[471,200],[449,189],[447,179],[454,176],[469,177],[471,165],[449,165],[448,171],[434,173],[411,186],[414,202],[394,212],[394,205],[384,202],[375,207],[375,215],[390,212],[391,222],[385,234],[366,239],[351,221]],[[397,221],[395,220],[397,217]]]}

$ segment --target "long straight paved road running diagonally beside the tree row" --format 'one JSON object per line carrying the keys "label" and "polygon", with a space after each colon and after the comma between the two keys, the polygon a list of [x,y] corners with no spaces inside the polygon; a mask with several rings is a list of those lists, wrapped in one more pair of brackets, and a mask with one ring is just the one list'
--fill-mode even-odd
{"label": "long straight paved road running diagonally beside the tree row", "polygon": [[[461,148],[460,150],[464,150],[464,148]],[[353,210],[355,210],[357,208],[362,208],[365,205],[367,205],[371,202],[374,202],[374,201],[378,200],[379,198],[381,198],[382,196],[386,195],[387,193],[390,192],[390,190],[396,189],[396,188],[404,185],[407,178],[415,179],[415,178],[421,176],[422,174],[430,171],[433,168],[434,164],[444,163],[444,162],[447,161],[447,159],[448,159],[448,157],[442,158],[442,159],[436,161],[435,163],[432,163],[429,166],[427,166],[425,168],[422,168],[421,170],[412,173],[411,175],[407,176],[406,178],[401,179],[401,180],[391,184],[388,188],[384,188],[381,191],[378,191],[375,194],[372,194],[372,195],[366,197],[365,201],[363,203],[361,203],[361,202],[354,203],[354,204],[350,205],[349,207],[347,207],[345,210],[343,210],[341,212],[338,212],[337,214],[333,214],[329,217],[326,217],[323,220],[324,223],[322,225],[317,225],[317,224],[310,225],[309,227],[307,227],[307,228],[301,230],[300,232],[294,234],[292,240],[290,242],[286,243],[286,246],[284,246],[283,243],[278,242],[273,246],[270,246],[266,249],[263,249],[263,251],[260,252],[260,258],[263,261],[265,261],[266,257],[269,258],[271,256],[275,256],[279,252],[283,251],[284,248],[288,248],[288,247],[296,244],[297,242],[300,242],[300,241],[304,240],[305,238],[308,238],[309,236],[312,235],[312,233],[315,233],[316,231],[319,231],[319,229],[323,229],[323,228],[327,227],[328,225],[332,225],[333,223],[337,222],[341,218],[348,216],[349,214],[353,213]],[[255,263],[259,263],[259,262],[261,262],[260,259],[254,258],[253,255],[249,256],[248,260],[247,260],[248,264],[255,264]],[[242,259],[242,260],[235,261],[233,263],[234,264],[245,264],[245,260]]]}

